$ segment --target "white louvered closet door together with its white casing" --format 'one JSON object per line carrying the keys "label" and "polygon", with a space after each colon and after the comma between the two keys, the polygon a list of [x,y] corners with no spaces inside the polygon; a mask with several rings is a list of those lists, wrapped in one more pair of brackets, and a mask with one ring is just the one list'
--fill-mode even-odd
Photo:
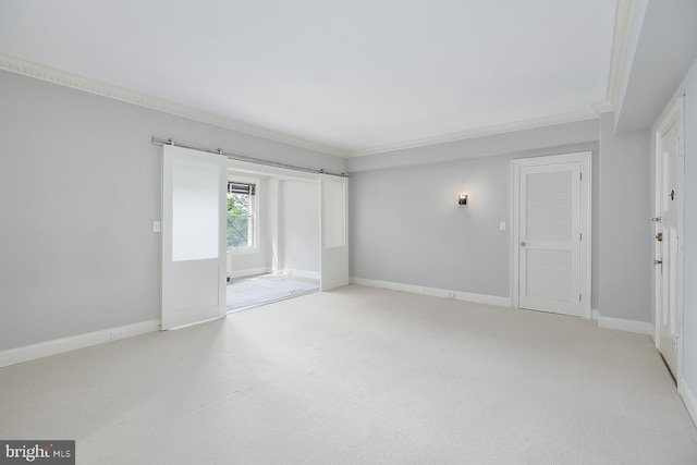
{"label": "white louvered closet door together with its white casing", "polygon": [[590,162],[513,160],[514,307],[590,318]]}

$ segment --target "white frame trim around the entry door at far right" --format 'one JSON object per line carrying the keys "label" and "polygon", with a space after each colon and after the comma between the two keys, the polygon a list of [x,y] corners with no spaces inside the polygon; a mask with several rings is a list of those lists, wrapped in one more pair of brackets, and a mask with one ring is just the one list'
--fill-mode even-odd
{"label": "white frame trim around the entry door at far right", "polygon": [[[677,372],[675,374],[675,379],[681,380],[683,376],[683,316],[684,316],[684,292],[685,292],[685,201],[684,201],[684,193],[685,193],[685,96],[680,96],[675,99],[671,110],[658,121],[655,133],[655,146],[653,146],[653,217],[659,217],[659,206],[661,205],[661,189],[659,189],[659,180],[663,178],[663,163],[660,159],[660,152],[662,149],[661,139],[664,133],[670,130],[670,127],[677,123],[677,137],[680,140],[678,150],[680,150],[680,170],[677,173],[678,179],[678,187],[677,187],[677,236],[680,237],[678,247],[677,247],[677,344],[675,347],[676,354],[676,363]],[[661,186],[662,187],[662,186]],[[659,232],[658,222],[653,225],[653,233],[657,234]],[[659,247],[658,242],[653,241],[653,250],[652,258],[658,259],[659,257]],[[659,315],[660,302],[659,302],[659,272],[658,269],[653,270],[652,274],[653,281],[653,343],[656,345],[656,350],[661,352],[661,319]]]}

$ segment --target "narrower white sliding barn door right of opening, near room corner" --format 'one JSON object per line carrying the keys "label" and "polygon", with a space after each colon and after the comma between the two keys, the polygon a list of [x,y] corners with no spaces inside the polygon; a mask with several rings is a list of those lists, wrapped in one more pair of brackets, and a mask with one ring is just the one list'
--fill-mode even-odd
{"label": "narrower white sliding barn door right of opening, near room corner", "polygon": [[319,175],[319,260],[321,291],[348,284],[348,183]]}

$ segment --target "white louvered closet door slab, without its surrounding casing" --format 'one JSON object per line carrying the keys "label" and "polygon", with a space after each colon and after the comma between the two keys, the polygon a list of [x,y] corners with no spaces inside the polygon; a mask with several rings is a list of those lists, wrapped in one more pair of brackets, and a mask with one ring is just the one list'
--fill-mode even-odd
{"label": "white louvered closet door slab, without its surrounding casing", "polygon": [[580,163],[521,168],[521,308],[582,316]]}

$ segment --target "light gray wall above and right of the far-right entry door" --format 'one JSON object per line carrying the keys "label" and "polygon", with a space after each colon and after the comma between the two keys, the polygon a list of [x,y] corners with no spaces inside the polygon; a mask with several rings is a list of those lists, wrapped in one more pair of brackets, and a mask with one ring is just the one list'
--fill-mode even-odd
{"label": "light gray wall above and right of the far-right entry door", "polygon": [[[693,394],[697,394],[697,61],[665,105],[661,118],[672,109],[681,95],[685,95],[683,377]],[[657,124],[659,121],[660,118]],[[651,134],[655,135],[657,125],[651,129]]]}

